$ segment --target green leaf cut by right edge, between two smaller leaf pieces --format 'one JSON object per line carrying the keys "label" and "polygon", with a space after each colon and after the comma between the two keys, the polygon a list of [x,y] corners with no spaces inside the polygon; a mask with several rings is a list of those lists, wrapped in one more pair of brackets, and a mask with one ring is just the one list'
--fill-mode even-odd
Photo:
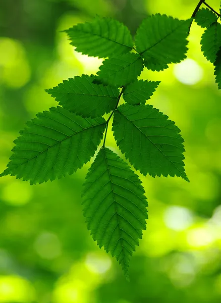
{"label": "green leaf cut by right edge, between two smaller leaf pieces", "polygon": [[203,55],[208,61],[214,63],[221,46],[221,24],[216,22],[210,25],[203,33],[200,43]]}

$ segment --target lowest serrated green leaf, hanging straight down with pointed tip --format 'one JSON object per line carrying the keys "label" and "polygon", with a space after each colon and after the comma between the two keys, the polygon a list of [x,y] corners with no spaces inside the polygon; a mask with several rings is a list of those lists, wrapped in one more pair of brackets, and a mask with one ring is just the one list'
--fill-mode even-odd
{"label": "lowest serrated green leaf, hanging straight down with pointed tip", "polygon": [[147,201],[138,176],[118,155],[101,148],[86,177],[83,212],[94,241],[122,265],[127,279],[130,256],[146,229]]}

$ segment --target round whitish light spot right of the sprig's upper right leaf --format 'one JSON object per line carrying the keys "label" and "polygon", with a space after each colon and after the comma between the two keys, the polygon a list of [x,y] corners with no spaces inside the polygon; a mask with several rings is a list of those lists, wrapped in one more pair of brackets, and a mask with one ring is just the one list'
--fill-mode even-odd
{"label": "round whitish light spot right of the sprig's upper right leaf", "polygon": [[203,69],[193,59],[186,59],[174,66],[174,75],[186,85],[194,85],[203,77]]}

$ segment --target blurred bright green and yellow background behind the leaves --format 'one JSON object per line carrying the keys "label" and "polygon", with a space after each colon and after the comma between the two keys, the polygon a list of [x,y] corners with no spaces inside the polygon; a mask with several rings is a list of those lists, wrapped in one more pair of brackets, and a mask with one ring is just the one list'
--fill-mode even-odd
{"label": "blurred bright green and yellow background behind the leaves", "polygon": [[[135,34],[149,14],[187,19],[197,3],[0,0],[0,170],[25,122],[57,105],[44,89],[96,73],[102,62],[74,52],[62,30],[98,14]],[[219,0],[208,3],[219,9]],[[89,164],[35,186],[8,176],[0,179],[0,302],[220,303],[221,91],[200,50],[202,33],[193,24],[187,60],[141,74],[162,81],[150,104],[181,128],[190,183],[141,176],[149,220],[131,260],[131,282],[84,223],[81,187]],[[106,145],[121,155],[111,129]]]}

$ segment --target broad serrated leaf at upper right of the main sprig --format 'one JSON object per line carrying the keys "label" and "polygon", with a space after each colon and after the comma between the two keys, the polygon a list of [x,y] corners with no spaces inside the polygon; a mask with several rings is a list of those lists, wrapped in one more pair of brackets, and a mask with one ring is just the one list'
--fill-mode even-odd
{"label": "broad serrated leaf at upper right of the main sprig", "polygon": [[186,58],[190,20],[178,20],[167,15],[146,18],[137,30],[135,44],[144,58],[144,65],[153,71],[168,68]]}

